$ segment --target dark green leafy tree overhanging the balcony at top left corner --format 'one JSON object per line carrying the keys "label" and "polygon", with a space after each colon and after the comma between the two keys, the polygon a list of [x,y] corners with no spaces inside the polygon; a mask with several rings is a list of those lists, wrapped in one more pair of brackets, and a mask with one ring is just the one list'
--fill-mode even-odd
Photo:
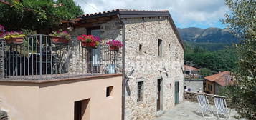
{"label": "dark green leafy tree overhanging the balcony at top left corner", "polygon": [[[62,20],[70,20],[83,14],[80,6],[72,0],[9,0],[0,3],[0,23],[7,31],[21,29],[37,30],[46,34],[52,28],[59,28]],[[62,3],[62,4],[60,4]]]}

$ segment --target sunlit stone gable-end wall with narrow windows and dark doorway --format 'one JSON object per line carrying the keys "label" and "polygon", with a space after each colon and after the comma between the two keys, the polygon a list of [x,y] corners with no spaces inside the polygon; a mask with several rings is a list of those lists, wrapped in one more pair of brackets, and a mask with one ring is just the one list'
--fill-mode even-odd
{"label": "sunlit stone gable-end wall with narrow windows and dark doorway", "polygon": [[[125,120],[151,120],[157,112],[157,81],[163,79],[162,108],[174,107],[174,83],[179,81],[183,100],[184,49],[167,17],[123,19],[125,22]],[[162,56],[158,56],[158,39]],[[141,51],[139,46],[141,44]],[[133,71],[133,74],[131,74]],[[163,72],[164,71],[164,72]],[[143,81],[143,101],[137,102],[138,81]]]}

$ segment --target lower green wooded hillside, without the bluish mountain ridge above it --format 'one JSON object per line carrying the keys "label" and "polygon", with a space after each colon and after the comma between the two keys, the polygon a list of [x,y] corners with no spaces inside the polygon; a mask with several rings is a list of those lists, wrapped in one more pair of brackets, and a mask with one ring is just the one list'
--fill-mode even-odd
{"label": "lower green wooded hillside, without the bluish mountain ridge above it", "polygon": [[185,46],[185,62],[192,66],[207,68],[214,72],[232,71],[237,67],[237,54],[233,46],[218,51],[209,51],[202,46]]}

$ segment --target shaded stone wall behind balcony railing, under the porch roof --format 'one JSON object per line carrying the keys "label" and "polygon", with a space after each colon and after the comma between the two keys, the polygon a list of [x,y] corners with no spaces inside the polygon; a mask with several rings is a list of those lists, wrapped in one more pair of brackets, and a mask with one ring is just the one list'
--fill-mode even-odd
{"label": "shaded stone wall behind balcony railing, under the porch roof", "polygon": [[[115,39],[122,41],[122,25],[120,24],[120,21],[118,19],[113,19],[111,21],[108,21],[103,24],[99,24],[100,26],[100,39],[102,42],[101,45],[101,54],[102,57],[100,58],[101,62],[101,70],[106,71],[106,67],[108,64],[110,64],[110,55],[108,54],[108,47],[105,45],[105,43],[109,40]],[[82,34],[86,34],[86,28],[85,27],[78,27],[75,28],[71,33],[72,39],[77,39],[77,36],[80,36]],[[113,54],[113,53],[112,53]],[[115,54],[116,55],[116,54]],[[87,65],[85,63],[87,59],[87,51],[86,49],[82,49],[80,47],[80,42],[75,42],[75,44],[72,44],[72,47],[69,50],[69,54],[67,55],[69,57],[70,61],[70,71],[71,72],[81,72],[86,71]],[[113,56],[112,56],[113,57]],[[118,59],[118,70],[120,71],[122,68],[122,49],[119,50],[118,58],[115,57],[115,59]],[[113,58],[112,58],[113,59]]]}

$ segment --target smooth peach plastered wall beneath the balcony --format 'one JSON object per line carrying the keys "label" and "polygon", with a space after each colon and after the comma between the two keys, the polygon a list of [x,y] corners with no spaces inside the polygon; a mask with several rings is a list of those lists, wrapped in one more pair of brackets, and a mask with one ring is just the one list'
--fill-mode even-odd
{"label": "smooth peach plastered wall beneath the balcony", "polygon": [[[0,82],[0,108],[15,120],[72,120],[74,102],[90,98],[89,120],[120,120],[122,75],[42,83]],[[113,96],[106,88],[113,86]]]}

